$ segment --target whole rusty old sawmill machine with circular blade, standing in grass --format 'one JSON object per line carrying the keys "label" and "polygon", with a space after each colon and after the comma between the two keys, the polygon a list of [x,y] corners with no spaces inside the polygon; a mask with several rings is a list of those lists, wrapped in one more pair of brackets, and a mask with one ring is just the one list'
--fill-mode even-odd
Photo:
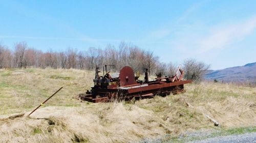
{"label": "whole rusty old sawmill machine with circular blade, standing in grass", "polygon": [[[99,76],[99,68],[96,67],[94,87],[86,93],[78,95],[78,99],[89,102],[109,102],[112,100],[131,100],[154,97],[155,95],[166,96],[171,93],[184,92],[184,84],[191,83],[192,80],[182,80],[184,71],[178,67],[174,76],[161,77],[158,74],[154,80],[148,79],[147,69],[144,80],[139,80],[139,75],[135,76],[131,67],[123,67],[120,73],[110,74],[107,66],[103,67],[103,76]],[[180,72],[180,74],[178,74]]]}

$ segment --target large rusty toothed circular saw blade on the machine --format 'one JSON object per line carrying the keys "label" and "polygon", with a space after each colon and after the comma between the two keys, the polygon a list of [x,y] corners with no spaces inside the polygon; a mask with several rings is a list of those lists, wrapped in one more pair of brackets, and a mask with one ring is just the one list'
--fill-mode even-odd
{"label": "large rusty toothed circular saw blade on the machine", "polygon": [[123,67],[119,74],[120,86],[135,84],[135,76],[131,67]]}

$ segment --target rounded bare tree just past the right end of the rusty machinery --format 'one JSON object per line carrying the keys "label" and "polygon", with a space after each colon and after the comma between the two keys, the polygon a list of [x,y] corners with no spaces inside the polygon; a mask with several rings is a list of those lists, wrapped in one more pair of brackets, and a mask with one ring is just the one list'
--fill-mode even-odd
{"label": "rounded bare tree just past the right end of the rusty machinery", "polygon": [[192,79],[195,82],[200,82],[206,70],[210,68],[210,65],[198,62],[195,59],[187,59],[184,61],[183,67],[185,70],[185,79]]}

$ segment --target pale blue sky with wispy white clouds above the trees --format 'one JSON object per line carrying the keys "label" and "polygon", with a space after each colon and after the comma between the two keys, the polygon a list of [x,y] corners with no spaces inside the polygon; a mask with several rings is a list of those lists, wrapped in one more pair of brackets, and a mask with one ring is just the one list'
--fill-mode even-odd
{"label": "pale blue sky with wispy white clouds above the trees", "polygon": [[0,43],[63,51],[151,50],[161,62],[195,58],[211,69],[256,62],[256,1],[3,1]]}

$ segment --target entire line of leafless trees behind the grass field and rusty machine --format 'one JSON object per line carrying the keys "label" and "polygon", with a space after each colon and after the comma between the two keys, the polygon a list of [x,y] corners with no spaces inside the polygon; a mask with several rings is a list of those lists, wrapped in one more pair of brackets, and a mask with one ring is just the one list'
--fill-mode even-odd
{"label": "entire line of leafless trees behind the grass field and rusty machine", "polygon": [[[115,65],[112,69],[116,71],[123,66],[130,66],[140,73],[147,68],[151,75],[161,72],[167,76],[174,75],[178,67],[173,63],[160,63],[153,52],[125,42],[121,42],[117,48],[107,45],[104,49],[90,47],[86,51],[78,51],[70,47],[61,52],[42,52],[28,47],[25,42],[16,43],[14,51],[0,45],[0,68],[50,67],[94,70],[96,66],[102,68],[104,65]],[[196,60],[186,60],[183,65],[187,73],[186,79],[199,78],[209,68]]]}

